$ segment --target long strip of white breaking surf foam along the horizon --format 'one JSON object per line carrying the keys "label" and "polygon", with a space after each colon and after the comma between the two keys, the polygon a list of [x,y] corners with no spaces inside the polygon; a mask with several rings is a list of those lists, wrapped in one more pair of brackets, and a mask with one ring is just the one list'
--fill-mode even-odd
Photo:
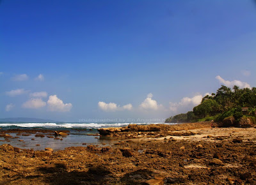
{"label": "long strip of white breaking surf foam along the horizon", "polygon": [[[47,123],[33,123],[33,122],[22,122],[22,123],[0,123],[0,127],[4,126],[20,126],[20,127],[43,127],[43,128],[106,128],[106,127],[121,127],[128,126],[129,124],[164,124],[163,122],[116,122],[116,123],[55,123],[55,122],[47,122]],[[176,123],[165,123],[165,124],[176,124]]]}

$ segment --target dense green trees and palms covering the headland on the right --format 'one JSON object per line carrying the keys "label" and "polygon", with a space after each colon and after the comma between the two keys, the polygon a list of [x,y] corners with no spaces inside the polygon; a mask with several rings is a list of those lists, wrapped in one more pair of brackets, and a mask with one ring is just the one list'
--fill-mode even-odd
{"label": "dense green trees and palms covering the headland on the right", "polygon": [[[244,108],[248,107],[248,108]],[[243,111],[242,111],[243,108]],[[256,112],[256,87],[252,89],[233,89],[221,85],[216,94],[212,93],[202,99],[200,105],[186,114],[178,114],[166,119],[166,122],[195,122],[216,121],[221,122],[227,117],[234,117],[239,122],[241,117],[252,117],[255,121]]]}

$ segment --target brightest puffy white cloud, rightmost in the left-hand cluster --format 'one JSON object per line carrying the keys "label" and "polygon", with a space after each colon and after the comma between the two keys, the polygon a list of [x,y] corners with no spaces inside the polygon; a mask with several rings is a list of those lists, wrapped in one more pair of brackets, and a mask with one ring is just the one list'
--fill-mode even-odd
{"label": "brightest puffy white cloud, rightmost in the left-hand cluster", "polygon": [[71,103],[63,103],[63,101],[60,100],[60,98],[58,98],[56,95],[49,96],[47,106],[49,110],[56,112],[68,112],[72,108]]}

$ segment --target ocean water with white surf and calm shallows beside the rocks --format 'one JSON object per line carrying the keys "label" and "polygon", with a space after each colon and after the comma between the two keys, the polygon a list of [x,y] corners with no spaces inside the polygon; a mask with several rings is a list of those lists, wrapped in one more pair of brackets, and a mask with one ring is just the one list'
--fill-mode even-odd
{"label": "ocean water with white surf and calm shallows beside the rocks", "polygon": [[45,147],[50,147],[56,151],[63,150],[65,147],[79,147],[91,144],[112,145],[117,141],[109,138],[100,138],[97,136],[97,129],[123,127],[128,126],[129,124],[163,124],[163,122],[0,122],[0,132],[2,133],[9,129],[50,129],[52,131],[70,131],[67,137],[60,137],[61,140],[48,137],[35,137],[35,133],[26,136],[17,135],[17,133],[8,133],[12,138],[6,138],[4,140],[4,137],[0,137],[0,145],[11,144],[14,147],[33,149],[35,151],[44,150]]}

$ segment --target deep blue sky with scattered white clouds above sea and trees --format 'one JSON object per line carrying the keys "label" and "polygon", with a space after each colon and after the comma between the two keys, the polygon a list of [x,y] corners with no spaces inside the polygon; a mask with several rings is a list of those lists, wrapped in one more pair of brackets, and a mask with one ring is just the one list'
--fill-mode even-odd
{"label": "deep blue sky with scattered white clouds above sea and trees", "polygon": [[255,87],[255,20],[247,0],[2,0],[0,117],[164,119]]}

